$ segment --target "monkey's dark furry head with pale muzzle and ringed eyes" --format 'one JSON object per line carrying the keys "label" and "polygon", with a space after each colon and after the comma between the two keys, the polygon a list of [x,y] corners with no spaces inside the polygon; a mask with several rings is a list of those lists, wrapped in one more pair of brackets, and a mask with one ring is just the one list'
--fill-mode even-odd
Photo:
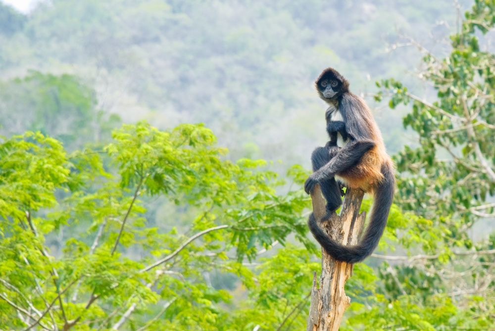
{"label": "monkey's dark furry head with pale muzzle and ringed eyes", "polygon": [[329,104],[335,104],[340,96],[349,92],[349,82],[333,68],[323,70],[315,86],[320,97]]}

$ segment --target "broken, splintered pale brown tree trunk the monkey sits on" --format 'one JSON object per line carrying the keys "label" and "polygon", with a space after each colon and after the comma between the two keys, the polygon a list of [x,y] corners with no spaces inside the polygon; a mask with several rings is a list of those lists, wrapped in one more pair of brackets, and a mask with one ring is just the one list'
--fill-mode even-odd
{"label": "broken, splintered pale brown tree trunk the monkey sits on", "polygon": [[[325,199],[319,185],[311,192],[313,213],[316,221],[330,237],[345,245],[355,245],[364,226],[366,213],[359,214],[364,192],[361,189],[347,189],[340,216],[333,213],[329,220],[321,223],[325,216]],[[342,316],[350,305],[350,298],[344,292],[347,279],[352,276],[353,264],[336,261],[321,250],[320,288],[316,286],[316,272],[313,275],[313,292],[306,331],[337,331]]]}

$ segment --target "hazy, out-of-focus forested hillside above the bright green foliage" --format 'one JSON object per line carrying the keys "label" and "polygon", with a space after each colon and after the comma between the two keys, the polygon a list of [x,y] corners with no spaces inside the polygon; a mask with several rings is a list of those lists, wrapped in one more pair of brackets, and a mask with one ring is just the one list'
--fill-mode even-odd
{"label": "hazy, out-of-focus forested hillside above the bright green foliage", "polygon": [[[27,16],[7,5],[0,9],[3,135],[41,130],[76,147],[98,140],[97,123],[111,114],[124,123],[147,119],[162,129],[203,122],[232,159],[262,157],[306,167],[312,149],[326,140],[325,106],[313,87],[322,68],[338,68],[358,95],[376,92],[374,82],[389,77],[423,90],[408,75],[422,55],[401,36],[445,54],[458,15],[471,5],[451,0],[50,3],[38,3]],[[78,110],[53,110],[50,86],[64,83],[32,70],[75,75],[93,102]],[[22,103],[13,101],[12,90]],[[375,110],[392,153],[414,141],[402,130],[404,114]]]}

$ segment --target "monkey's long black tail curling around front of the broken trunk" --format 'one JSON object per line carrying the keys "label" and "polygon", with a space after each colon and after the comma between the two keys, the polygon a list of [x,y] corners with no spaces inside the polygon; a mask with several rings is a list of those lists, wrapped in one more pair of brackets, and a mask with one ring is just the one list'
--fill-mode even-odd
{"label": "monkey's long black tail curling around front of the broken trunk", "polygon": [[378,246],[378,242],[387,225],[387,218],[389,217],[395,189],[395,177],[392,165],[385,163],[381,170],[385,179],[377,185],[374,191],[373,206],[369,216],[370,221],[366,227],[366,232],[356,245],[345,246],[333,240],[320,229],[313,214],[309,215],[309,230],[311,230],[311,233],[325,251],[334,259],[347,263],[360,262],[373,253]]}

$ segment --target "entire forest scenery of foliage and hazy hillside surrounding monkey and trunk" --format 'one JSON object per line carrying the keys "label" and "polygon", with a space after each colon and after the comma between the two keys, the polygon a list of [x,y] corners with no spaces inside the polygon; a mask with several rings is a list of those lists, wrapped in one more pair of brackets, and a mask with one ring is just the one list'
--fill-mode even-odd
{"label": "entire forest scenery of foliage and hazy hillside surrounding monkey and trunk", "polygon": [[341,330],[495,330],[494,25],[491,0],[0,1],[0,329],[305,328],[331,66],[398,183]]}

